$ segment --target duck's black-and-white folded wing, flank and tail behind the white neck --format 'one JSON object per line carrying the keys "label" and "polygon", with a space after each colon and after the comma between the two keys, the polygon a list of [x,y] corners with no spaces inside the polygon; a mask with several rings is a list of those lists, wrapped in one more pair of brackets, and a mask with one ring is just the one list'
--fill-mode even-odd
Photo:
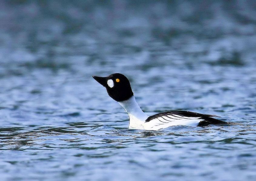
{"label": "duck's black-and-white folded wing, flank and tail behind the white neck", "polygon": [[206,126],[209,124],[227,124],[225,121],[212,117],[218,116],[189,111],[168,111],[149,116],[145,120],[144,128],[147,130],[158,130],[175,125]]}

